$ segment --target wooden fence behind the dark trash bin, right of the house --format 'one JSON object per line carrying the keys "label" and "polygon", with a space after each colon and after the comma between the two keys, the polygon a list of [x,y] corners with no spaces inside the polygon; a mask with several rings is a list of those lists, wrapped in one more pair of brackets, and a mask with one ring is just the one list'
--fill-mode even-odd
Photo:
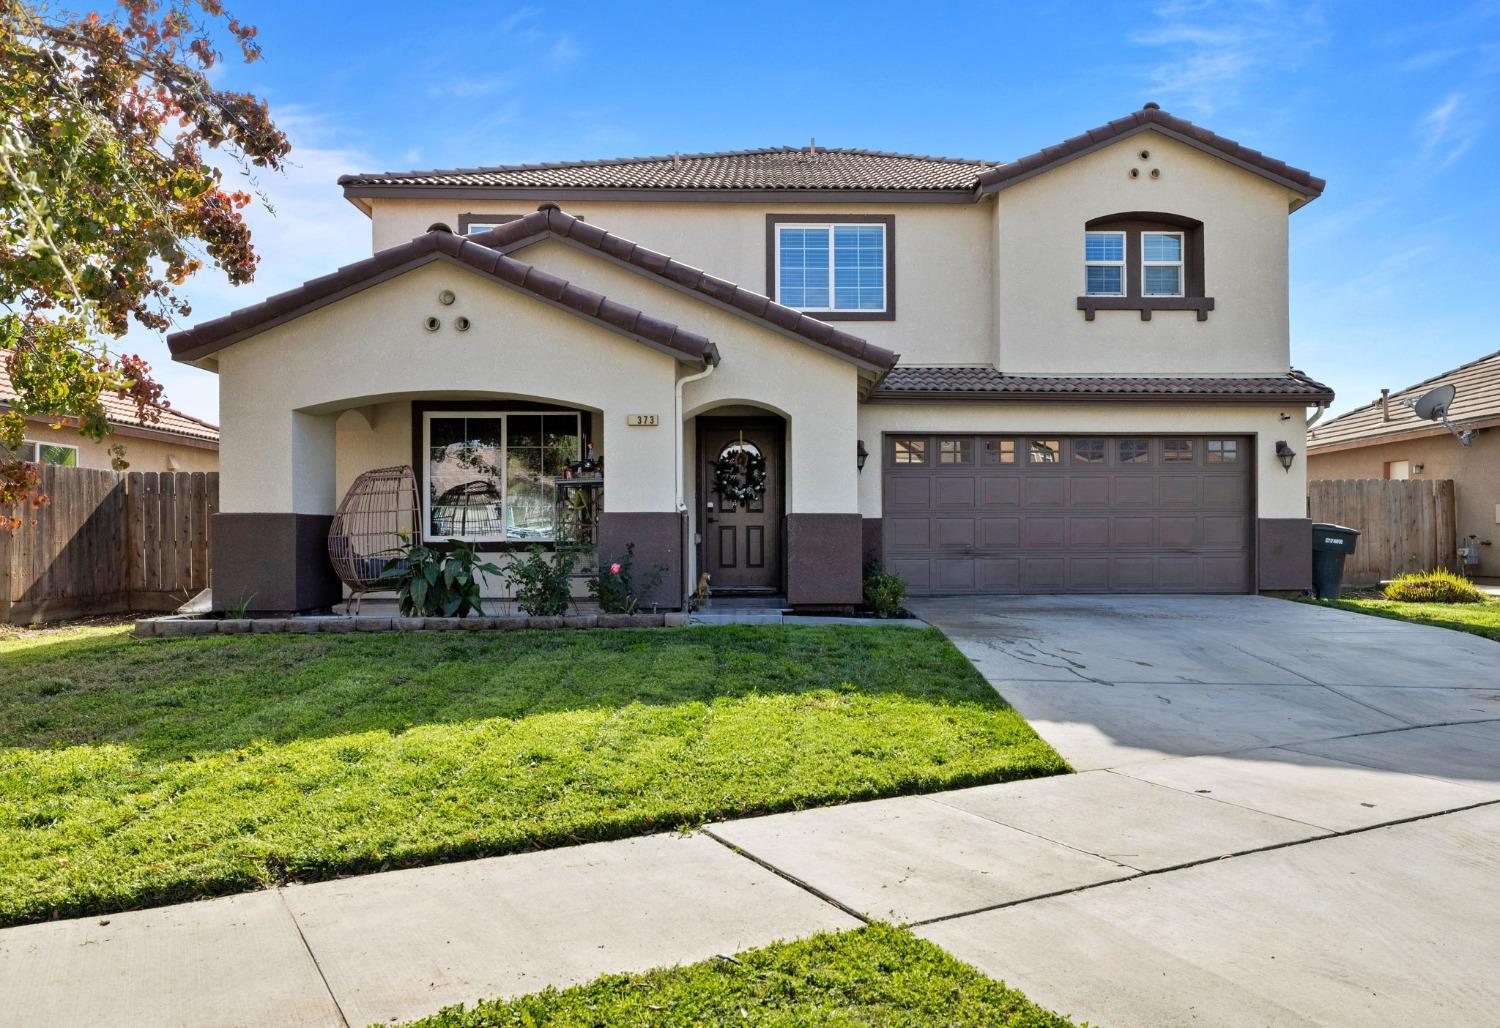
{"label": "wooden fence behind the dark trash bin, right of the house", "polygon": [[1329,479],[1308,483],[1312,521],[1358,528],[1346,585],[1377,585],[1406,572],[1458,570],[1452,479]]}

